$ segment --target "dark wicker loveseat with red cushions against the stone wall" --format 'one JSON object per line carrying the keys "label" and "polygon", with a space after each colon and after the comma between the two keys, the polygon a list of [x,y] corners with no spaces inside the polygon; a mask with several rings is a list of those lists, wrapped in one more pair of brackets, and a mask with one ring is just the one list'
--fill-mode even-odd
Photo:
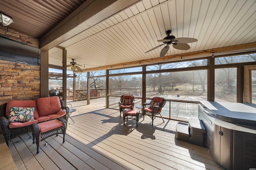
{"label": "dark wicker loveseat with red cushions against the stone wall", "polygon": [[[26,122],[12,122],[8,120],[11,107],[34,107],[34,120]],[[33,126],[37,123],[62,118],[68,122],[67,108],[58,96],[38,98],[37,100],[12,100],[0,106],[0,125],[4,139],[9,147],[10,139],[28,132],[33,133]],[[10,119],[10,118],[9,118]]]}

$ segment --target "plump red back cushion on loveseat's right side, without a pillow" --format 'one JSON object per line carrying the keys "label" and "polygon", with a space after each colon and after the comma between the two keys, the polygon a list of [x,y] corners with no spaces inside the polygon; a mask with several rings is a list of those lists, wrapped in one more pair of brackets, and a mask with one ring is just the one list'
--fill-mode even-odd
{"label": "plump red back cushion on loveseat's right side, without a pillow", "polygon": [[56,114],[62,110],[58,96],[38,98],[36,100],[39,116],[48,116]]}

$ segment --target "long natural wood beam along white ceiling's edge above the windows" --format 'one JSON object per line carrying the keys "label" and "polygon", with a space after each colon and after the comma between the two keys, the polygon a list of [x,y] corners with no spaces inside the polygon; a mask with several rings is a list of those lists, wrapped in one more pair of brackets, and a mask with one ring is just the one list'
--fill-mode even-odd
{"label": "long natural wood beam along white ceiling's edge above the windows", "polygon": [[127,63],[120,63],[120,64],[113,64],[109,66],[100,66],[94,67],[94,68],[88,68],[83,69],[84,72],[90,72],[90,71],[97,71],[97,70],[106,70],[106,69],[114,69],[114,68],[126,68],[131,66],[140,66],[145,64],[152,64],[152,63],[166,63],[172,61],[178,61],[180,60],[180,57],[183,59],[191,59],[191,58],[202,58],[205,57],[207,54],[212,53],[221,53],[221,52],[231,52],[231,51],[238,51],[238,50],[246,50],[246,49],[253,49],[256,51],[256,42],[254,43],[247,43],[247,44],[241,44],[241,45],[233,45],[229,47],[222,47],[222,48],[216,48],[216,49],[210,49],[210,50],[203,50],[203,51],[195,51],[190,53],[183,53],[178,55],[169,55],[166,57],[158,57],[154,59],[147,59],[142,61],[132,61]]}

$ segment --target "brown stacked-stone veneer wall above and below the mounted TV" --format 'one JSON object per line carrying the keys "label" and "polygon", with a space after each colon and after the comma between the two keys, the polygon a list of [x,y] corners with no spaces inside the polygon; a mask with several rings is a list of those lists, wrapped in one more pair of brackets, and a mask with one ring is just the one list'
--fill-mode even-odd
{"label": "brown stacked-stone veneer wall above and below the mounted TV", "polygon": [[[0,35],[39,48],[39,41],[8,27]],[[10,100],[36,100],[40,97],[40,66],[0,61],[0,104]]]}

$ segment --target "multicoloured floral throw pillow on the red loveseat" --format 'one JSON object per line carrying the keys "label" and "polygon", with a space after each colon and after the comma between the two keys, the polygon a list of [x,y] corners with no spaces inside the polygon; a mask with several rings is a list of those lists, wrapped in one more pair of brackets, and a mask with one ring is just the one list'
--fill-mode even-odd
{"label": "multicoloured floral throw pillow on the red loveseat", "polygon": [[8,117],[9,123],[25,122],[34,120],[35,107],[9,107],[10,113]]}

